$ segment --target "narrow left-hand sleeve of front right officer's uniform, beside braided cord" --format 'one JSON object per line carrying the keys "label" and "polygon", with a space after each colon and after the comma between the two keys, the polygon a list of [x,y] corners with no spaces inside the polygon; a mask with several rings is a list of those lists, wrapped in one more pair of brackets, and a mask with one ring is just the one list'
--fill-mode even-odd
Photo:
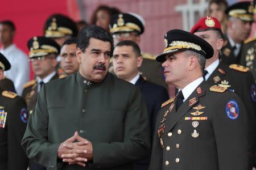
{"label": "narrow left-hand sleeve of front right officer's uniform, beside braided cord", "polygon": [[[159,120],[159,114],[156,119],[156,122],[160,122]],[[163,169],[163,150],[160,146],[159,137],[158,137],[158,126],[155,126],[155,133],[153,138],[153,144],[152,144],[152,151],[151,151],[151,160],[150,160],[150,170],[155,169]]]}

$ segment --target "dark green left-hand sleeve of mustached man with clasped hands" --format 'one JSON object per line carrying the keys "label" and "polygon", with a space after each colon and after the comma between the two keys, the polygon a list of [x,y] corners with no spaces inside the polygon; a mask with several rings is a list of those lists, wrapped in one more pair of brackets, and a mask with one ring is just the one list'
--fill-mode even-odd
{"label": "dark green left-hand sleeve of mustached man with clasped hands", "polygon": [[60,143],[50,143],[48,141],[47,108],[46,88],[43,86],[34,112],[28,120],[27,129],[22,139],[22,147],[28,158],[34,160],[34,162],[47,168],[57,169],[57,150]]}

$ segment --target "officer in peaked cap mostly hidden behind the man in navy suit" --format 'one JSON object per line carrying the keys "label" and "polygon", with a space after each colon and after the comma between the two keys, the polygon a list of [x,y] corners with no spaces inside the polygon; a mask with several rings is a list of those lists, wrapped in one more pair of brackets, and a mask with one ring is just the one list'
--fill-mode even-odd
{"label": "officer in peaked cap mostly hidden behind the man in navy suit", "polygon": [[[114,45],[122,40],[141,42],[141,35],[144,32],[144,20],[141,16],[133,13],[122,13],[113,15],[110,20],[110,33],[113,35]],[[162,67],[155,61],[155,56],[142,52],[143,62],[139,68],[139,74],[152,83],[159,84],[167,88],[164,82]],[[110,61],[112,62],[112,61]],[[113,72],[110,63],[110,72]]]}

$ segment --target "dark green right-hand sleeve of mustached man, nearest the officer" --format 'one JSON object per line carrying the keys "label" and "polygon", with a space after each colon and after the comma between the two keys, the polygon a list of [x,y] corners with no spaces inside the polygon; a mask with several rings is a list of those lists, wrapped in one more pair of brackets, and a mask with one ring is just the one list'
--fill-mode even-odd
{"label": "dark green right-hand sleeve of mustached man, nearest the officer", "polygon": [[150,128],[141,92],[134,88],[124,120],[123,142],[92,143],[92,167],[113,167],[146,158],[150,154]]}

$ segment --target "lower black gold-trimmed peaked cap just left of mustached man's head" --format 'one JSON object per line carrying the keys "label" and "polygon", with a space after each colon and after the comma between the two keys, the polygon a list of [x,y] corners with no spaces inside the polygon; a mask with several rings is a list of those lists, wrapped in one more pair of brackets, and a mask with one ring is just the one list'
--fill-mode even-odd
{"label": "lower black gold-trimmed peaked cap just left of mustached man's head", "polygon": [[43,57],[48,54],[59,54],[60,46],[52,39],[47,37],[32,37],[27,42],[28,49],[30,52],[28,56],[33,57]]}

